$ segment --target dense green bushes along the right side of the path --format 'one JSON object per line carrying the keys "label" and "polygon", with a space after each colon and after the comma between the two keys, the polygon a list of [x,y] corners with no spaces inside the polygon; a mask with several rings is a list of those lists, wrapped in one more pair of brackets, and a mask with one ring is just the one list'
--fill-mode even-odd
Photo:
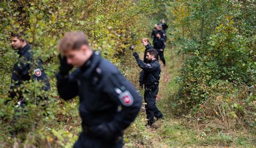
{"label": "dense green bushes along the right side of the path", "polygon": [[255,89],[248,88],[255,87],[256,76],[255,3],[172,4],[171,43],[184,55],[176,79],[180,86],[176,115],[188,114],[203,121],[216,117],[226,129],[253,128],[255,107],[251,104],[255,99],[249,98],[255,97],[250,94]]}

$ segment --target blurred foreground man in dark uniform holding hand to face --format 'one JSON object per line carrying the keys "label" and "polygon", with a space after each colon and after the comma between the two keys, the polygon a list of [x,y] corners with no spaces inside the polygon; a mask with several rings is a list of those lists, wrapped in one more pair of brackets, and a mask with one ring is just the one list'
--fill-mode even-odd
{"label": "blurred foreground man in dark uniform holding hand to face", "polygon": [[[123,131],[134,121],[142,98],[117,67],[94,52],[83,32],[69,32],[59,42],[60,97],[79,96],[83,132],[74,147],[122,147]],[[69,74],[73,66],[76,70]]]}

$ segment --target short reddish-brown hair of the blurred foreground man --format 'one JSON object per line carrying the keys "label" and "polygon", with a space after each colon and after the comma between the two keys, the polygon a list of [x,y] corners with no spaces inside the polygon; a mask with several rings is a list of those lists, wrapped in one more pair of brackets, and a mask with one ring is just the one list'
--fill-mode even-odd
{"label": "short reddish-brown hair of the blurred foreground man", "polygon": [[79,50],[83,45],[89,46],[85,34],[82,31],[71,31],[59,41],[58,50],[60,53],[64,53],[70,50]]}

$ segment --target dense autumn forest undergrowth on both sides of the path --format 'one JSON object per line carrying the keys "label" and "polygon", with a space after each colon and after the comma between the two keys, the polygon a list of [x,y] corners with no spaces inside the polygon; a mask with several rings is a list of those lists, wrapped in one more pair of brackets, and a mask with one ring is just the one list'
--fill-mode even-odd
{"label": "dense autumn forest undergrowth on both sides of the path", "polygon": [[[176,79],[179,91],[171,96],[171,104],[164,104],[163,108],[172,107],[171,114],[185,125],[197,122],[195,125],[205,126],[204,133],[209,135],[214,132],[220,136],[221,133],[229,135],[246,129],[255,135],[254,1],[0,2],[1,146],[71,147],[76,141],[81,131],[77,111],[79,102],[77,99],[62,101],[55,87],[55,73],[58,71],[56,45],[65,32],[84,31],[91,46],[102,52],[103,57],[117,65],[138,86],[139,69],[130,59],[130,47],[135,45],[136,50],[143,49],[140,40],[150,36],[153,24],[163,18],[169,24],[166,50],[171,46],[171,50],[177,50],[177,54],[183,57]],[[40,83],[24,83],[22,89],[29,103],[28,111],[23,114],[14,112],[17,100],[6,102],[10,100],[7,95],[10,76],[18,57],[10,46],[10,33],[21,28],[25,28],[35,56],[43,59],[52,86],[46,94],[39,91]],[[167,65],[166,68],[172,67]],[[46,109],[38,104],[38,95],[49,96],[49,100],[44,102]],[[167,114],[169,108],[165,111]],[[17,115],[21,118],[15,124],[11,123]],[[127,146],[152,144],[145,130],[144,116],[145,112],[142,112],[126,131],[124,141]],[[172,117],[168,118],[172,120]],[[168,121],[162,125],[163,134],[172,132],[168,129],[169,124]],[[179,127],[181,125],[177,125],[176,130],[180,130]],[[23,130],[16,139],[9,134],[15,129]],[[177,137],[180,139],[182,133],[179,132]],[[172,137],[167,135],[164,138],[170,140]],[[218,144],[213,140],[213,144]]]}

